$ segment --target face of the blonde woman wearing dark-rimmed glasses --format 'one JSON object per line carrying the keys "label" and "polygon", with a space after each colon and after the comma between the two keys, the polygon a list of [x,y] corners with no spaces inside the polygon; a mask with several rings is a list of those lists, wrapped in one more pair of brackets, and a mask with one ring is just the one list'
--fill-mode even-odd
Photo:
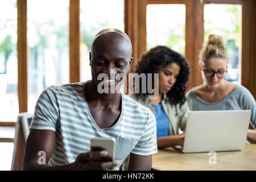
{"label": "face of the blonde woman wearing dark-rimmed glasses", "polygon": [[227,61],[217,57],[212,57],[205,61],[204,65],[200,65],[205,84],[212,88],[220,86],[227,72],[226,66]]}

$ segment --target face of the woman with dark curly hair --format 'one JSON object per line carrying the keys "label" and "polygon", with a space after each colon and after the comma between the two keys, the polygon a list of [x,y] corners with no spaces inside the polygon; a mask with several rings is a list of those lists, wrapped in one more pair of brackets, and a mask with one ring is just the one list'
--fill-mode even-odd
{"label": "face of the woman with dark curly hair", "polygon": [[176,63],[168,64],[159,69],[159,94],[167,93],[174,86],[177,76],[180,72],[180,66]]}

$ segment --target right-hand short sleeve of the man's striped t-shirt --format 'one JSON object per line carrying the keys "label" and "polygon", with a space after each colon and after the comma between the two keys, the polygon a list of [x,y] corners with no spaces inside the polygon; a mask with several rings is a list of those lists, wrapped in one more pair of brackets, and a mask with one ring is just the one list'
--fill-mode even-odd
{"label": "right-hand short sleeve of the man's striped t-shirt", "polygon": [[156,143],[156,119],[155,115],[150,112],[150,119],[147,122],[146,129],[139,142],[133,148],[131,153],[137,155],[151,155],[158,152]]}

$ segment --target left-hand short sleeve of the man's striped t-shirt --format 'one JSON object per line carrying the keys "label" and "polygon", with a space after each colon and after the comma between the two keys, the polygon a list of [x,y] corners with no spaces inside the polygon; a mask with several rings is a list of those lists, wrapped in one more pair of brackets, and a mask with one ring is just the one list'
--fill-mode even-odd
{"label": "left-hand short sleeve of the man's striped t-shirt", "polygon": [[56,131],[59,118],[59,107],[56,102],[54,86],[45,89],[39,96],[35,106],[35,113],[30,125],[31,129]]}

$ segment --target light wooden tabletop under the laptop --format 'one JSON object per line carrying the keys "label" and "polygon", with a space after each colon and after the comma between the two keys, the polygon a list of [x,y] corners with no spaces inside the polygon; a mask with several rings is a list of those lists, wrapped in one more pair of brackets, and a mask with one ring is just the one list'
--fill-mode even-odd
{"label": "light wooden tabletop under the laptop", "polygon": [[158,149],[152,157],[152,170],[256,170],[256,144],[245,144],[242,151],[216,152],[216,156],[216,164],[209,164],[212,155],[208,152],[182,154],[172,147]]}

